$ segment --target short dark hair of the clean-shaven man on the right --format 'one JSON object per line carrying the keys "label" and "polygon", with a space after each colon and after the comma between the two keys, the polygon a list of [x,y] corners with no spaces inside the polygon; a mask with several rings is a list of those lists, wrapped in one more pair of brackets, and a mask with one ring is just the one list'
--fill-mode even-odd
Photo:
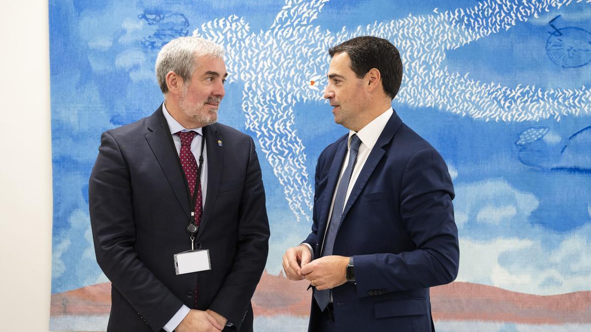
{"label": "short dark hair of the clean-shaven man on the right", "polygon": [[392,99],[402,82],[400,52],[388,40],[372,36],[356,37],[329,49],[330,57],[345,52],[351,59],[351,70],[361,79],[375,68],[382,75],[382,86]]}

